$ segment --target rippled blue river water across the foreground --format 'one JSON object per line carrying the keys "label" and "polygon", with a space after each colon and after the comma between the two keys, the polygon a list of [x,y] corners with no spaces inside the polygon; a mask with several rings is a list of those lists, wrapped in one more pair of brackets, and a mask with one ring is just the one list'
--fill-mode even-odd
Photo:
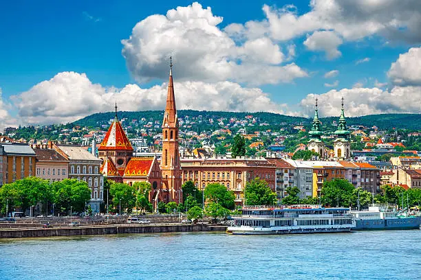
{"label": "rippled blue river water across the foreground", "polygon": [[0,279],[421,279],[421,231],[0,240]]}

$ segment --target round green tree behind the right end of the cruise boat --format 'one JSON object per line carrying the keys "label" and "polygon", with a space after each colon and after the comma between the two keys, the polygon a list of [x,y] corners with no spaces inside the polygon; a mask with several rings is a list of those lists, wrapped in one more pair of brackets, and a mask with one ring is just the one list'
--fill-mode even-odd
{"label": "round green tree behind the right end of the cruise boat", "polygon": [[355,187],[348,180],[334,179],[325,181],[321,189],[321,195],[326,205],[349,206],[354,201]]}

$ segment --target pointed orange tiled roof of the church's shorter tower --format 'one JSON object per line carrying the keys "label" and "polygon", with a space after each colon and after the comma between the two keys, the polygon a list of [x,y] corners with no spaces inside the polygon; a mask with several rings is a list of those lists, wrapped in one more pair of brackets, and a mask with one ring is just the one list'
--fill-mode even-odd
{"label": "pointed orange tiled roof of the church's shorter tower", "polygon": [[109,127],[107,134],[102,140],[99,151],[101,150],[127,150],[133,151],[129,139],[127,139],[125,130],[122,129],[120,121],[115,119]]}

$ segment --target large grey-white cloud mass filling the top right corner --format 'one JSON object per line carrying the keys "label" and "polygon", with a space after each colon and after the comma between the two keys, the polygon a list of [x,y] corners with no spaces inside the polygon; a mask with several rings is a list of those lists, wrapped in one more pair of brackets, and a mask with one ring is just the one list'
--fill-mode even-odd
{"label": "large grey-white cloud mass filling the top right corner", "polygon": [[[324,50],[331,59],[340,55],[338,45],[344,41],[356,41],[371,36],[385,40],[405,40],[409,43],[421,42],[421,1],[419,0],[311,0],[310,11],[299,15],[294,5],[274,8],[263,5],[266,19],[249,21],[244,25],[228,25],[230,36],[235,38],[255,38],[269,36],[277,42],[299,38],[312,32],[334,32],[338,38],[336,45],[316,47],[310,50]],[[317,35],[316,36],[320,36]],[[339,40],[339,38],[341,40]],[[308,39],[307,39],[308,40]],[[308,41],[310,45],[312,39]],[[330,50],[330,51],[327,51]],[[366,60],[367,61],[367,60]]]}

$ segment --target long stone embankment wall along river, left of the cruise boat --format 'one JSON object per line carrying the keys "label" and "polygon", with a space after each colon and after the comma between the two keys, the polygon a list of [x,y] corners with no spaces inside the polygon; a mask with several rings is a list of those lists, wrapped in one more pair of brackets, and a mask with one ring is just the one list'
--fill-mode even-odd
{"label": "long stone embankment wall along river, left of the cruise boat", "polygon": [[189,231],[225,231],[226,226],[208,224],[169,224],[169,225],[109,225],[75,226],[61,229],[3,229],[0,238],[54,237],[74,235],[106,235],[120,233],[170,233]]}

